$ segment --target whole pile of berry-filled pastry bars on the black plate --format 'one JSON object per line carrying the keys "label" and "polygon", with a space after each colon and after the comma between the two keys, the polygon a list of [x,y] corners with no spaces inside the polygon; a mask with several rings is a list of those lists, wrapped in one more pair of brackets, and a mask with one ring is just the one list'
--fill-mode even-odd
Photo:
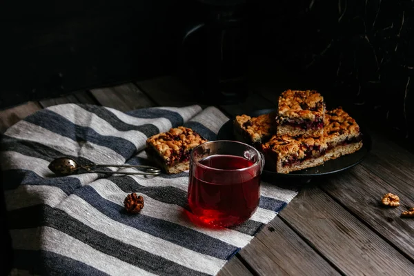
{"label": "whole pile of berry-filled pastry bars on the black plate", "polygon": [[362,147],[355,119],[342,108],[325,112],[323,97],[313,90],[287,90],[277,117],[237,116],[234,126],[236,137],[264,153],[266,168],[280,173],[319,166]]}

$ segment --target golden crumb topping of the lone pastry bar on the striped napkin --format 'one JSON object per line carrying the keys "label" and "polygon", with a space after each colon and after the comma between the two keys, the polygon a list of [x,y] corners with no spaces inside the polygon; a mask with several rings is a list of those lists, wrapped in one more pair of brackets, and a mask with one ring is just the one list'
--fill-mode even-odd
{"label": "golden crumb topping of the lone pastry bar on the striped napkin", "polygon": [[148,138],[146,143],[170,164],[174,161],[185,161],[190,150],[206,141],[191,128],[179,126]]}

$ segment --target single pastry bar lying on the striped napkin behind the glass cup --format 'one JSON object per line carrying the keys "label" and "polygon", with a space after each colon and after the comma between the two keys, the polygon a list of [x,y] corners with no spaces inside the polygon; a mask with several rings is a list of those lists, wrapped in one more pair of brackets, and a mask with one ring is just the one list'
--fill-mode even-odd
{"label": "single pastry bar lying on the striped napkin behind the glass cup", "polygon": [[190,168],[190,150],[206,141],[191,128],[179,126],[148,138],[146,154],[166,173],[178,173]]}

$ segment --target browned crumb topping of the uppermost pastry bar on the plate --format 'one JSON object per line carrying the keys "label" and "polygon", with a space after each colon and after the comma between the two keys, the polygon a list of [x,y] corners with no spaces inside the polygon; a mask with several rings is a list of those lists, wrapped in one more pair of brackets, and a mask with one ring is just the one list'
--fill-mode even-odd
{"label": "browned crumb topping of the uppermost pastry bar on the plate", "polygon": [[279,117],[310,119],[324,117],[324,97],[315,90],[286,90],[279,97]]}

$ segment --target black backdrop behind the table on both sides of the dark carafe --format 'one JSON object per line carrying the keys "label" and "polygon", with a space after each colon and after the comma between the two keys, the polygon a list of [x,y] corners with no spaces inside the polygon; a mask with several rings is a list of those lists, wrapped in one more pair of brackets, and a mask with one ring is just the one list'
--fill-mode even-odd
{"label": "black backdrop behind the table on both sides of the dark carafe", "polygon": [[[401,0],[246,1],[237,8],[246,19],[242,63],[280,89],[317,89],[410,139],[413,7]],[[0,108],[179,72],[183,34],[210,10],[190,0],[2,1]]]}

